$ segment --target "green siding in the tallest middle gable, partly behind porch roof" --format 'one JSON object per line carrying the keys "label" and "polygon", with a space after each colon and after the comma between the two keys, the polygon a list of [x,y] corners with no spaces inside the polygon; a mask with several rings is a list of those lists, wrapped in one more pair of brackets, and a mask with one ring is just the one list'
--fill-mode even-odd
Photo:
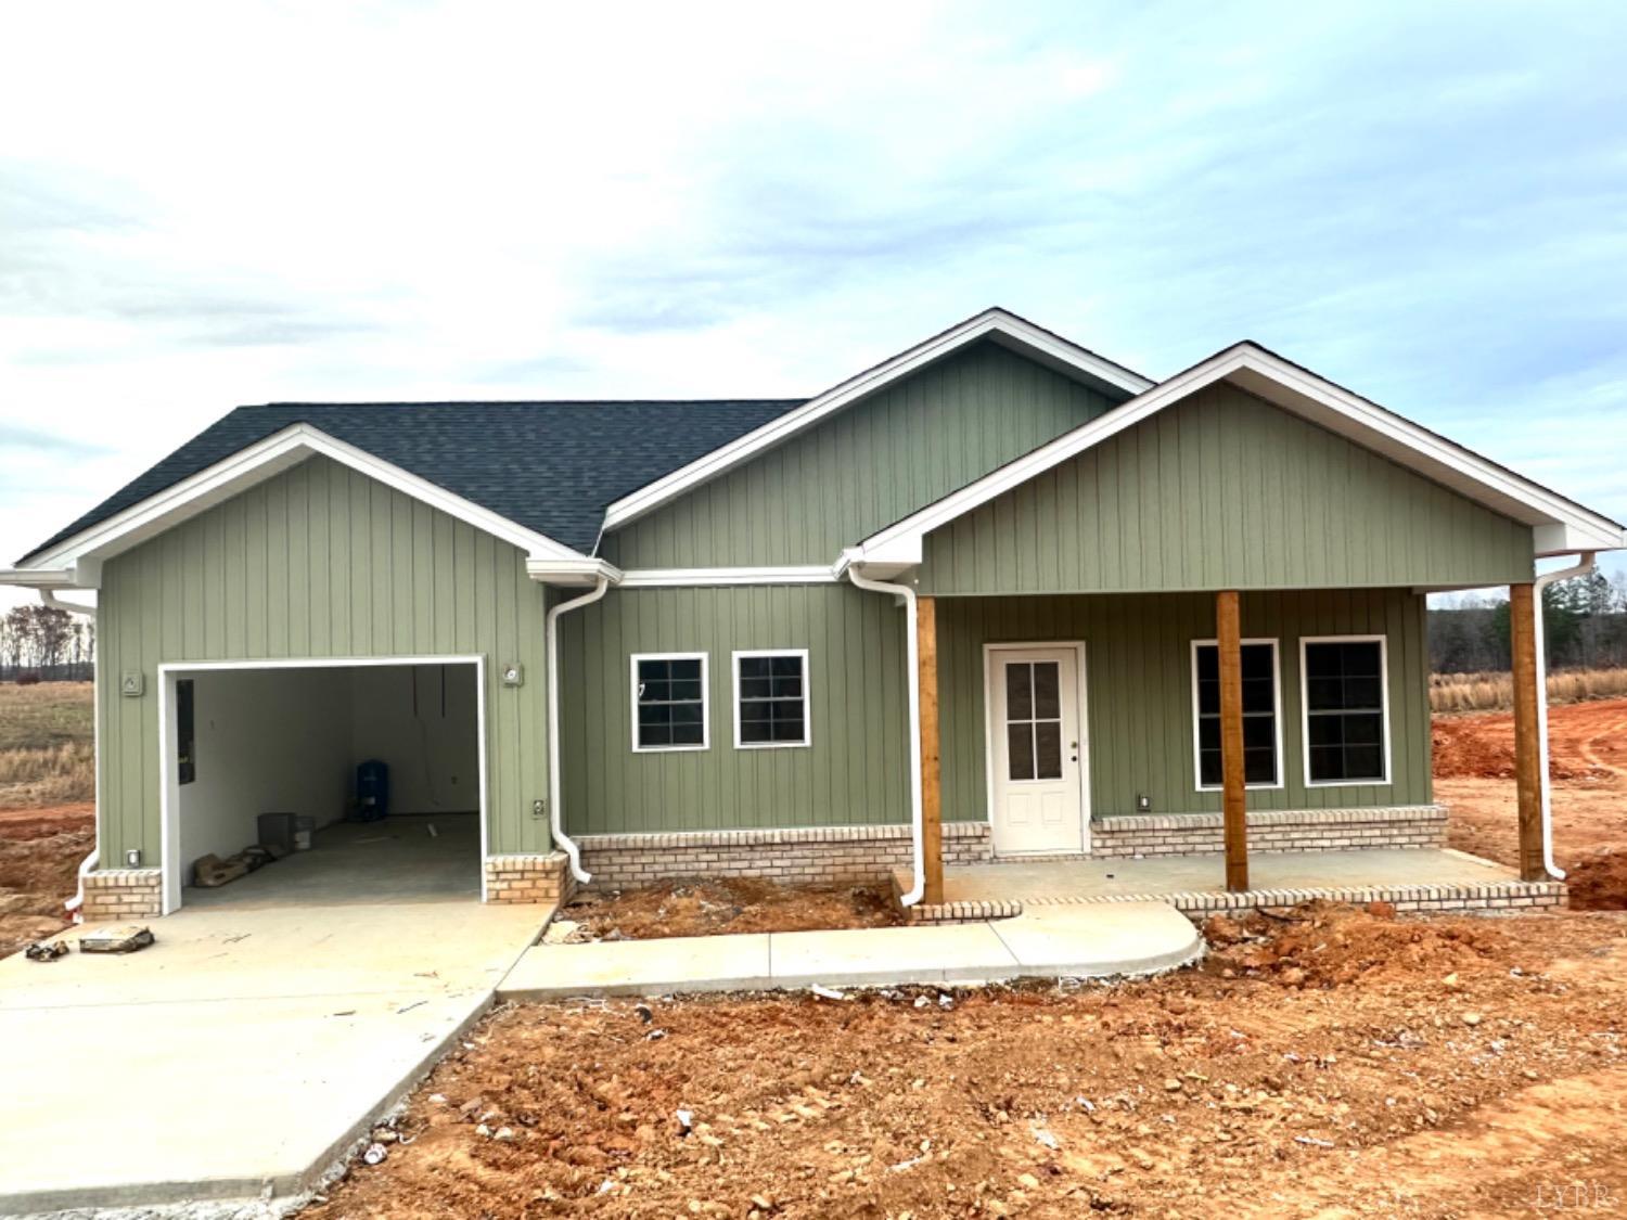
{"label": "green siding in the tallest middle gable, partly behind porch roof", "polygon": [[976,343],[605,537],[625,569],[831,563],[1116,399]]}

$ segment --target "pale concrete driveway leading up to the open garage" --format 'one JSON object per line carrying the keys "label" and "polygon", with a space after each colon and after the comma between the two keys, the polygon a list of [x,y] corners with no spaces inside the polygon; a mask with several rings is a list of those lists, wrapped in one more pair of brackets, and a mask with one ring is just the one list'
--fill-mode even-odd
{"label": "pale concrete driveway leading up to the open garage", "polygon": [[0,961],[0,1213],[298,1191],[486,1009],[547,914],[220,906],[153,921],[130,956]]}

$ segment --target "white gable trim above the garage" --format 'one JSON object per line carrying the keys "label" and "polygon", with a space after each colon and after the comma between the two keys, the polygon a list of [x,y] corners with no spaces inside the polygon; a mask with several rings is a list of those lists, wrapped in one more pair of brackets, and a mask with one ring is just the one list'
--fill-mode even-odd
{"label": "white gable trim above the garage", "polygon": [[181,480],[174,486],[164,488],[138,504],[132,504],[124,512],[75,534],[50,550],[31,555],[29,560],[39,566],[68,568],[81,560],[104,560],[119,555],[314,454],[330,457],[351,470],[360,470],[363,475],[376,478],[386,486],[395,488],[430,508],[436,508],[485,534],[519,547],[534,560],[587,558],[581,551],[574,551],[543,534],[517,525],[491,509],[436,486],[426,478],[408,473],[399,465],[392,465],[353,444],[329,436],[319,428],[312,428],[308,423],[293,423],[272,436],[255,441],[246,449],[239,449],[215,465]]}

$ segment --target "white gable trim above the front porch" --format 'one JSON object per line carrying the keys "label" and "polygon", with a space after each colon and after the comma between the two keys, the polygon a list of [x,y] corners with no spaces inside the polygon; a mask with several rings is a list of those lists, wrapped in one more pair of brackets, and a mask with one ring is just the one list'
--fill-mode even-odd
{"label": "white gable trim above the front porch", "polygon": [[1536,535],[1536,555],[1627,547],[1627,530],[1607,517],[1521,478],[1511,470],[1489,462],[1479,454],[1264,348],[1240,343],[872,534],[859,543],[854,560],[898,566],[918,564],[923,556],[923,538],[932,530],[1219,381],[1230,381],[1250,394],[1373,449],[1469,499],[1531,525]]}

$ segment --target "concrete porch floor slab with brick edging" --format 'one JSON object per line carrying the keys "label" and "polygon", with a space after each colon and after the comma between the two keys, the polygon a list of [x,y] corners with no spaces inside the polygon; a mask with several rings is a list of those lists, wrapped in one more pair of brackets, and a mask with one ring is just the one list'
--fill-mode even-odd
{"label": "concrete porch floor slab with brick edging", "polygon": [[[893,874],[895,893],[909,874]],[[1186,914],[1290,906],[1316,898],[1391,903],[1399,913],[1531,911],[1564,904],[1562,882],[1523,882],[1518,872],[1450,847],[1297,851],[1254,856],[1250,887],[1227,890],[1225,857],[1001,861],[949,865],[944,898],[909,908],[911,922],[958,922],[1027,908],[1165,901]]]}

